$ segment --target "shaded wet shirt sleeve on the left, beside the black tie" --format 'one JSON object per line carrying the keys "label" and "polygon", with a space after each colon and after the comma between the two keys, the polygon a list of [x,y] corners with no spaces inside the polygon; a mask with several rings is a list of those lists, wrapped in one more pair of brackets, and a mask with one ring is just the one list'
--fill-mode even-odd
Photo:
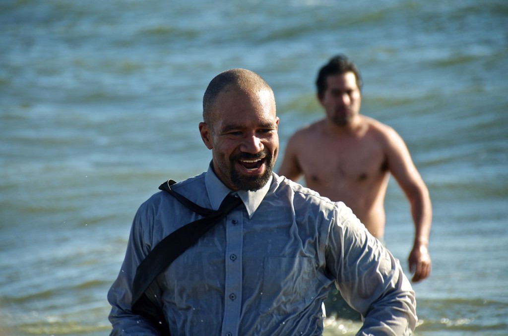
{"label": "shaded wet shirt sleeve on the left, beside the black tie", "polygon": [[153,212],[146,203],[140,207],[131,228],[129,243],[120,272],[108,292],[112,306],[109,320],[111,335],[158,335],[157,329],[145,318],[131,311],[132,283],[136,269],[150,251],[148,237],[152,236]]}

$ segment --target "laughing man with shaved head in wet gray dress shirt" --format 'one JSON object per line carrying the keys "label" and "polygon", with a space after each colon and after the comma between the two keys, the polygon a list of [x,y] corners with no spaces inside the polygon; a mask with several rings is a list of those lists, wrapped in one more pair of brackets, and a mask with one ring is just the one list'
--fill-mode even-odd
{"label": "laughing man with shaved head in wet gray dress shirt", "polygon": [[[364,316],[360,334],[415,328],[408,279],[351,209],[273,173],[278,123],[273,91],[259,75],[232,69],[210,82],[199,131],[211,163],[139,208],[108,292],[111,334],[320,335],[335,282]],[[140,264],[169,234],[203,218],[180,197],[221,219],[164,268],[145,292],[153,306],[139,310],[132,301]]]}

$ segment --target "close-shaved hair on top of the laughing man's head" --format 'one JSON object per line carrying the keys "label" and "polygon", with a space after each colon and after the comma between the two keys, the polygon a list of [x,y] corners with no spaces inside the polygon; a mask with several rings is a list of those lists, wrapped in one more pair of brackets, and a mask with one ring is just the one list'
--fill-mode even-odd
{"label": "close-shaved hair on top of the laughing man's head", "polygon": [[212,79],[203,96],[203,121],[211,123],[212,111],[217,97],[226,89],[235,89],[248,95],[254,95],[260,90],[268,90],[273,95],[272,88],[261,76],[245,69],[231,69],[222,72]]}

